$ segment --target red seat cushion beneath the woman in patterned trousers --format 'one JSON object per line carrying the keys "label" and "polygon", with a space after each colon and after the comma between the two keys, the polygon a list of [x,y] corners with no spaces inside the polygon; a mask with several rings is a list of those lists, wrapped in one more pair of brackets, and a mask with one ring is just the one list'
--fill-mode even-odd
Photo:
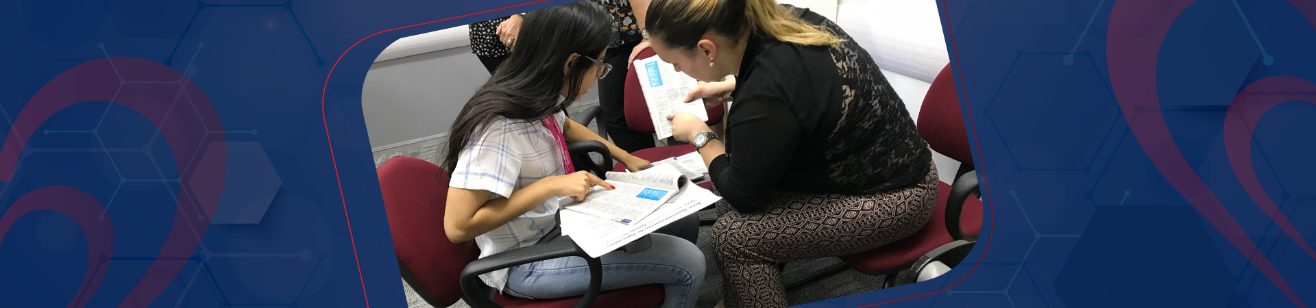
{"label": "red seat cushion beneath the woman in patterned trousers", "polygon": [[[923,226],[917,233],[909,236],[904,240],[887,244],[886,246],[841,257],[841,261],[850,265],[855,270],[862,272],[884,275],[908,269],[913,262],[919,261],[919,257],[930,253],[933,249],[940,247],[954,240],[950,238],[950,233],[946,232],[946,197],[950,195],[950,186],[946,183],[940,183],[937,188],[937,209],[932,213],[932,220]],[[982,229],[982,201],[976,197],[970,197],[965,201],[963,216],[961,216],[961,226],[969,234],[978,234]]]}

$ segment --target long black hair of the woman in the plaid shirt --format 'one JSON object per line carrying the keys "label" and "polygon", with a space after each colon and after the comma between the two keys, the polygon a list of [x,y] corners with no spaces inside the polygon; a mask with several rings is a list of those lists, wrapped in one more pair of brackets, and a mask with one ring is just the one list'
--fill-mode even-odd
{"label": "long black hair of the woman in the plaid shirt", "polygon": [[[578,1],[524,17],[516,47],[499,64],[457,115],[449,130],[443,168],[451,172],[457,157],[494,120],[538,121],[569,105],[580,95],[580,84],[596,63],[576,58],[566,75],[563,64],[571,54],[597,58],[616,34],[608,11],[594,1]],[[566,100],[559,99],[566,87]]]}

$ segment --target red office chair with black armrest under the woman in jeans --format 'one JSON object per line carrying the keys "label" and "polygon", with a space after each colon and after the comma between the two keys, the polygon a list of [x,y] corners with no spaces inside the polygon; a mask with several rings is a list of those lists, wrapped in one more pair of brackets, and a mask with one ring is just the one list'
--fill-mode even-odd
{"label": "red office chair with black armrest under the woman in jeans", "polygon": [[[443,233],[447,172],[418,158],[396,157],[378,170],[388,226],[403,280],[433,307],[465,299],[475,308],[522,307],[657,307],[662,284],[599,292],[601,265],[574,241],[562,238],[479,258],[471,242],[453,244]],[[480,282],[479,275],[516,265],[576,255],[590,265],[590,288],[583,296],[528,300],[504,296]],[[492,291],[492,292],[491,292]]]}

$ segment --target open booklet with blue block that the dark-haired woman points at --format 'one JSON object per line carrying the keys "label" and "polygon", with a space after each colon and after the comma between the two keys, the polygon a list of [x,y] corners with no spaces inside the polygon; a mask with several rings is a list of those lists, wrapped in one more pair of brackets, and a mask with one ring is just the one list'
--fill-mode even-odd
{"label": "open booklet with blue block that the dark-haired woman points at", "polygon": [[609,184],[615,190],[595,186],[584,201],[570,201],[562,208],[630,224],[649,216],[659,205],[671,200],[688,182],[686,175],[672,166],[654,166],[640,172],[608,172]]}

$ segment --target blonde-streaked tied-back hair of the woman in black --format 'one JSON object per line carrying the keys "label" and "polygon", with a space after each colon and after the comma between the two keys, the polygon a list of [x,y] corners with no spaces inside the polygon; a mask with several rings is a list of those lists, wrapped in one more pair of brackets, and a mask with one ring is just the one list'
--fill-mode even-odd
{"label": "blonde-streaked tied-back hair of the woman in black", "polygon": [[775,0],[653,0],[646,14],[646,30],[674,47],[691,49],[705,32],[728,37],[749,32],[808,46],[845,42],[795,17]]}

